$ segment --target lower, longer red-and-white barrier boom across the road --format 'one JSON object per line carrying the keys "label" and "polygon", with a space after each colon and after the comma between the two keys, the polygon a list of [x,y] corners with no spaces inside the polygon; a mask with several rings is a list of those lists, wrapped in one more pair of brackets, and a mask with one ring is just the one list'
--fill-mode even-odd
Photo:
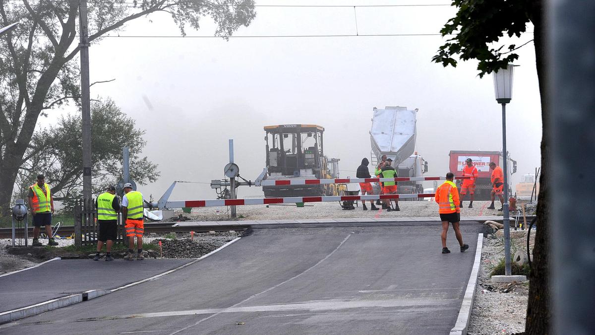
{"label": "lower, longer red-and-white barrier boom across the road", "polygon": [[[392,178],[386,178],[392,179]],[[434,197],[434,193],[418,194],[371,194],[369,196],[330,196],[330,197],[287,197],[287,198],[253,198],[253,199],[225,199],[225,200],[188,200],[168,201],[165,208],[182,207],[214,207],[214,206],[242,206],[246,204],[283,204],[283,203],[315,203],[325,201],[355,201],[355,200],[383,200]]]}

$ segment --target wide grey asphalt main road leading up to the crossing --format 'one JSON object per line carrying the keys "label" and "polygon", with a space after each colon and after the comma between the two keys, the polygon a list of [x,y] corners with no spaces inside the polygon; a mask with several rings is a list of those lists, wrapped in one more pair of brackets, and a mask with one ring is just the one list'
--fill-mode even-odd
{"label": "wide grey asphalt main road leading up to the crossing", "polygon": [[[440,224],[255,229],[214,255],[107,296],[0,325],[2,334],[448,334],[470,248]],[[106,274],[109,276],[109,274]]]}

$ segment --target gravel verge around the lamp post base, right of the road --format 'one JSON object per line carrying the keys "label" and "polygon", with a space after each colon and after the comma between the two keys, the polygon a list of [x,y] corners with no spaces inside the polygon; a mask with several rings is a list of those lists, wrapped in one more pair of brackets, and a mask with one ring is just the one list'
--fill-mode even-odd
{"label": "gravel verge around the lamp post base, right of the road", "polygon": [[[534,231],[530,247],[533,249]],[[484,238],[481,251],[481,268],[475,288],[475,300],[469,320],[469,335],[516,334],[525,331],[529,282],[496,284],[491,282],[490,265],[503,258],[504,249],[499,238]],[[527,232],[511,231],[511,243],[518,249],[527,249]],[[515,250],[511,247],[511,250]]]}

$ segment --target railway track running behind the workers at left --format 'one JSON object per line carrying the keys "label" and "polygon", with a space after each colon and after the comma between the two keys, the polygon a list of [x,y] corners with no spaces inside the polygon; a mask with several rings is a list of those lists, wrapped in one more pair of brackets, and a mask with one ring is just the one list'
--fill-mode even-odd
{"label": "railway track running behind the workers at left", "polygon": [[[207,231],[242,231],[247,225],[242,225],[238,222],[238,225],[233,226],[204,226],[204,227],[171,227],[177,222],[145,222],[145,234],[155,232],[156,234],[162,234],[166,232],[207,232]],[[28,227],[28,236],[33,236],[33,227]],[[15,235],[18,238],[19,235],[23,235],[24,228],[15,229]],[[70,236],[74,234],[74,226],[62,226],[58,229],[58,235]],[[0,238],[12,238],[12,228],[0,228]]]}

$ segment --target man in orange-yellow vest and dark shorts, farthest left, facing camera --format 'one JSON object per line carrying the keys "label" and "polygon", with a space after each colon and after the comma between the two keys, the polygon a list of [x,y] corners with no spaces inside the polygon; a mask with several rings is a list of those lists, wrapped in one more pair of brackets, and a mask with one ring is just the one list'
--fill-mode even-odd
{"label": "man in orange-yellow vest and dark shorts, farthest left, facing camera", "polygon": [[43,246],[39,241],[41,226],[45,226],[48,234],[48,246],[57,246],[52,234],[52,214],[54,213],[54,197],[49,185],[45,184],[45,176],[37,175],[37,182],[29,187],[29,209],[33,215],[33,244],[34,247]]}

